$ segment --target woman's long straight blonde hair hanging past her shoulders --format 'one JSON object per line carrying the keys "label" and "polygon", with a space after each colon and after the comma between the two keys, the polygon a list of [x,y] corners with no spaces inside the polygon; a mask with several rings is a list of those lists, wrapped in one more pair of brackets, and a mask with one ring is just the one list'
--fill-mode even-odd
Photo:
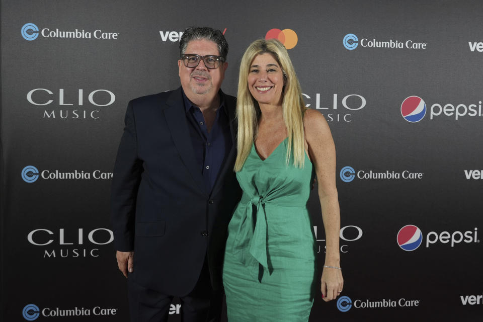
{"label": "woman's long straight blonde hair hanging past her shoulders", "polygon": [[269,53],[277,60],[283,72],[285,86],[282,91],[283,120],[288,134],[286,164],[290,160],[293,147],[293,165],[303,168],[305,161],[303,138],[303,113],[305,105],[297,75],[288,56],[287,49],[276,39],[258,39],[245,51],[240,63],[238,78],[238,97],[236,101],[236,117],[238,119],[238,154],[235,161],[235,172],[241,170],[250,154],[252,144],[258,133],[261,115],[260,106],[248,88],[250,66],[257,55]]}

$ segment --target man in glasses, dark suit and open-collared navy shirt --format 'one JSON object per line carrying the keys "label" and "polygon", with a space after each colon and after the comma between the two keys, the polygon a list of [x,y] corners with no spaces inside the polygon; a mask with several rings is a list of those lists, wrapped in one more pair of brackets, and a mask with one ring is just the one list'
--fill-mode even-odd
{"label": "man in glasses, dark suit and open-collared navy shirt", "polygon": [[187,29],[181,87],[129,102],[112,182],[119,269],[132,321],[218,320],[226,227],[239,199],[233,174],[235,98],[220,86],[228,44],[219,30]]}

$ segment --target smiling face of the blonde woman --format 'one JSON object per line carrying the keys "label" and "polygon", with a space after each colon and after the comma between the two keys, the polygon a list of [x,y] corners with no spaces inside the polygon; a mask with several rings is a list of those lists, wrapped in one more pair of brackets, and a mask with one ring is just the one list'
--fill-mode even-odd
{"label": "smiling face of the blonde woman", "polygon": [[284,83],[282,69],[271,54],[255,56],[248,74],[248,88],[259,104],[282,105]]}

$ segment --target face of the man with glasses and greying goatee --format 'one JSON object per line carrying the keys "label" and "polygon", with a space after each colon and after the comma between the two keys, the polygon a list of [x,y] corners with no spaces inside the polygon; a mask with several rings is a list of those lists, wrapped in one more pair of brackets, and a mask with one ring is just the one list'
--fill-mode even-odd
{"label": "face of the man with glasses and greying goatee", "polygon": [[[185,54],[197,54],[200,56],[216,55],[219,56],[218,46],[210,40],[192,40],[186,47]],[[228,63],[222,62],[218,68],[210,69],[205,66],[203,60],[196,67],[186,67],[183,61],[178,60],[180,69],[180,81],[183,91],[188,97],[191,92],[195,95],[215,96],[221,87],[221,82],[225,77],[225,70]]]}

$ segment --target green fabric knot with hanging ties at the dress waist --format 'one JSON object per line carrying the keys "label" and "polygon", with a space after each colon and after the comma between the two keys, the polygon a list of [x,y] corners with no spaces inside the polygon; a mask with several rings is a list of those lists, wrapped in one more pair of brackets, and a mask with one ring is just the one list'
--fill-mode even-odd
{"label": "green fabric knot with hanging ties at the dress waist", "polygon": [[[247,200],[249,199],[249,200]],[[268,227],[265,203],[267,196],[256,194],[241,198],[239,207],[245,207],[243,218],[235,234],[233,254],[244,264],[250,274],[261,281],[263,271],[272,274],[267,248]]]}

